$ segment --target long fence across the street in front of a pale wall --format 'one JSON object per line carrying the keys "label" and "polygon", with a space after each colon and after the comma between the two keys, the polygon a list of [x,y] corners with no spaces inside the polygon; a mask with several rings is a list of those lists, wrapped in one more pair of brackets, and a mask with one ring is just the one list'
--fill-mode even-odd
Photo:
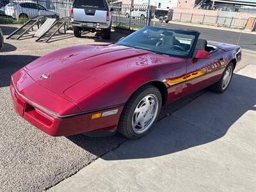
{"label": "long fence across the street in front of a pale wall", "polygon": [[244,29],[248,22],[248,19],[239,19],[236,17],[198,15],[193,13],[173,13],[173,20],[239,29]]}

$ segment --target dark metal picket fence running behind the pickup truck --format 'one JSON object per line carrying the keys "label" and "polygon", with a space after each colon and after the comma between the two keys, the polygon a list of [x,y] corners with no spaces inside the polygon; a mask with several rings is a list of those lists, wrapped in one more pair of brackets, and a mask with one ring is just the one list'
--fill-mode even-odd
{"label": "dark metal picket fence running behind the pickup truck", "polygon": [[[58,0],[0,0],[0,24],[23,24],[38,15],[61,19],[70,17],[72,1]],[[113,8],[112,26],[115,29],[136,31],[150,25],[154,7],[137,4],[110,4]]]}

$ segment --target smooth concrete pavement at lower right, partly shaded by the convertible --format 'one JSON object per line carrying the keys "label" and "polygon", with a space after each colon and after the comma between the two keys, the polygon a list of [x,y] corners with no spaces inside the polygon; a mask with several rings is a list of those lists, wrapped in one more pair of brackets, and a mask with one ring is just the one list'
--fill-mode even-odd
{"label": "smooth concrete pavement at lower right, partly shaded by the convertible", "polygon": [[256,66],[49,191],[256,191]]}

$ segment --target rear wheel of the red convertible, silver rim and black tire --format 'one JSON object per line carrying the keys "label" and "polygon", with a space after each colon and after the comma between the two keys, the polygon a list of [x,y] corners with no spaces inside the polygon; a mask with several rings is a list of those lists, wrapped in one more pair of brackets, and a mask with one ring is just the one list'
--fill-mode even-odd
{"label": "rear wheel of the red convertible, silver rim and black tire", "polygon": [[230,62],[225,68],[220,81],[209,86],[209,89],[216,93],[223,93],[227,90],[234,72],[234,63]]}

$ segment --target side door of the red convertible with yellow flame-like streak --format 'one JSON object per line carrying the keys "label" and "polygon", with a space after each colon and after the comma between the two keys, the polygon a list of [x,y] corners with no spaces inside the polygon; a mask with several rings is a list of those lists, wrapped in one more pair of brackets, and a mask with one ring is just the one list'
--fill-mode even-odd
{"label": "side door of the red convertible with yellow flame-like streak", "polygon": [[221,49],[211,52],[211,58],[189,59],[187,62],[186,88],[183,96],[198,92],[216,83],[220,79],[224,67],[225,61]]}

